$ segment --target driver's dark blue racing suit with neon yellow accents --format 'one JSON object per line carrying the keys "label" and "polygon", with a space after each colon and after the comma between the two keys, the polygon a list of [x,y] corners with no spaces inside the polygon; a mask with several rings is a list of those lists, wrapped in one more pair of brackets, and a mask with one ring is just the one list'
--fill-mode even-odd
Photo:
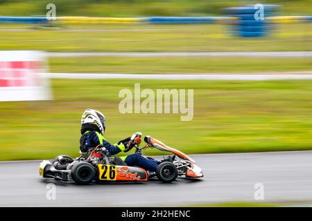
{"label": "driver's dark blue racing suit with neon yellow accents", "polygon": [[[121,151],[125,151],[125,142],[130,138],[120,141],[117,144],[110,144],[105,140],[103,135],[98,131],[85,131],[82,129],[82,135],[80,137],[80,151],[87,152],[89,148],[102,145],[106,148],[111,155],[116,155]],[[139,166],[147,171],[155,172],[159,162],[157,160],[148,160],[146,157],[133,153],[131,155],[120,157],[128,166]]]}

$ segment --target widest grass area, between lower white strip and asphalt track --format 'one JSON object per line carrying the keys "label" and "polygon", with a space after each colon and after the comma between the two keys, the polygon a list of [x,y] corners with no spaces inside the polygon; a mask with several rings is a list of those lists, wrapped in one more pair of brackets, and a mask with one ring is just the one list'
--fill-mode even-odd
{"label": "widest grass area, between lower white strip and asphalt track", "polygon": [[[194,117],[119,113],[119,90],[193,88]],[[312,149],[312,81],[52,81],[54,100],[0,103],[0,160],[76,156],[80,116],[96,108],[107,117],[105,137],[117,142],[135,131],[185,153]],[[156,150],[148,154],[159,153]]]}

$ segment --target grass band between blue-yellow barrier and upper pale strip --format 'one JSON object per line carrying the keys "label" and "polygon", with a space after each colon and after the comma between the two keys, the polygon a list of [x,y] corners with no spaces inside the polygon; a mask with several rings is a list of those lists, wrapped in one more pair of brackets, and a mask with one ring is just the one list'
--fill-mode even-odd
{"label": "grass band between blue-yellow barrier and upper pale strip", "polygon": [[[12,28],[24,28],[12,30]],[[25,29],[0,26],[1,50],[60,52],[201,52],[312,50],[312,23],[277,26],[267,38],[229,35],[229,26],[124,24]],[[94,29],[95,28],[95,29]],[[10,30],[11,29],[11,30]]]}

